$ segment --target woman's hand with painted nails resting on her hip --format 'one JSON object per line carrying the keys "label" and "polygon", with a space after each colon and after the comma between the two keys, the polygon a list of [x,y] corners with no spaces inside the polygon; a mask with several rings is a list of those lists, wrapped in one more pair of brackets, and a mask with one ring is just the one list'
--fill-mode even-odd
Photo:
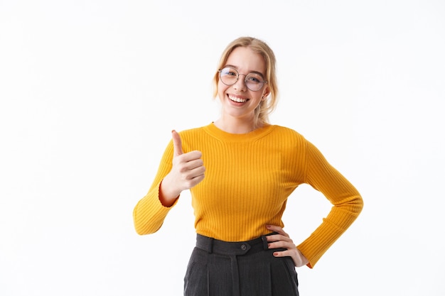
{"label": "woman's hand with painted nails resting on her hip", "polygon": [[284,232],[282,227],[267,225],[267,229],[278,233],[266,236],[269,242],[269,248],[286,248],[286,251],[274,252],[275,257],[291,257],[296,267],[301,267],[309,263],[309,260],[296,248],[294,241],[291,240],[289,234]]}

